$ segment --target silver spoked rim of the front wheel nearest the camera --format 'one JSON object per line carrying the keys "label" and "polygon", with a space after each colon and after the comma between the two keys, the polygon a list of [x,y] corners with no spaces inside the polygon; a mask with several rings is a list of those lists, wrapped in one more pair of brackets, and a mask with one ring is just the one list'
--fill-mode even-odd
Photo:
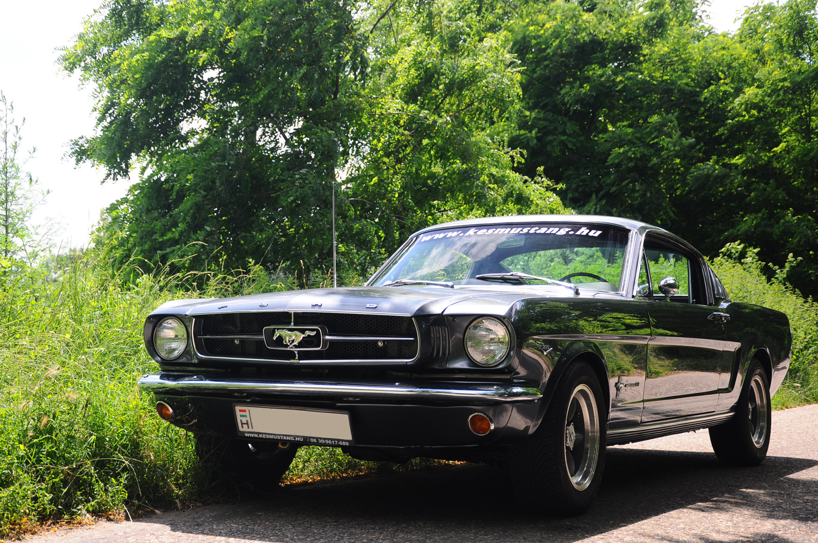
{"label": "silver spoked rim of the front wheel nearest the camera", "polygon": [[600,457],[600,416],[591,388],[580,384],[573,389],[565,413],[565,469],[571,484],[585,490],[591,484]]}

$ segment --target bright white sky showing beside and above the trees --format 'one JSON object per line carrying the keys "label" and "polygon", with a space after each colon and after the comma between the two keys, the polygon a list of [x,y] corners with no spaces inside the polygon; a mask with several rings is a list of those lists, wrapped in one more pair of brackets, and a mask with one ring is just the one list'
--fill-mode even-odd
{"label": "bright white sky showing beside and above the trees", "polygon": [[[56,227],[52,236],[64,249],[88,244],[100,213],[128,190],[127,182],[100,184],[101,171],[74,167],[65,159],[67,142],[91,134],[91,89],[57,69],[57,47],[70,43],[101,0],[0,0],[0,90],[14,102],[15,117],[25,117],[26,149],[36,147],[26,169],[51,191],[34,222]],[[734,31],[736,16],[754,0],[711,0],[711,24]],[[135,178],[135,176],[134,176]]]}

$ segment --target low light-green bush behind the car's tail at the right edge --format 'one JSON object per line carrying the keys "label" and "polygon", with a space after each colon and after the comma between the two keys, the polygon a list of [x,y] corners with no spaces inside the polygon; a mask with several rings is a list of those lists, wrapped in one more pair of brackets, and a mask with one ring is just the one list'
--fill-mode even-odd
{"label": "low light-green bush behind the car's tail at the right edge", "polygon": [[776,409],[818,402],[818,303],[803,298],[783,278],[798,259],[789,255],[784,269],[772,267],[775,276],[767,280],[766,266],[758,259],[758,249],[736,242],[727,244],[712,261],[713,270],[735,302],[757,303],[789,316],[793,331],[793,360],[787,378],[773,397]]}

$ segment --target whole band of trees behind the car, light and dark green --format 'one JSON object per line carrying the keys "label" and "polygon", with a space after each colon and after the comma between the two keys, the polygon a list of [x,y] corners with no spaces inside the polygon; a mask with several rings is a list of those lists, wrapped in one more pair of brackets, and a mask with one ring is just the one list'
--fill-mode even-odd
{"label": "whole band of trees behind the car, light and dark green", "polygon": [[818,294],[816,2],[759,4],[734,35],[700,9],[108,0],[61,58],[97,88],[74,157],[140,167],[98,240],[124,232],[120,263],[323,269],[335,188],[355,274],[430,223],[564,201],[711,256],[794,254],[788,280]]}

